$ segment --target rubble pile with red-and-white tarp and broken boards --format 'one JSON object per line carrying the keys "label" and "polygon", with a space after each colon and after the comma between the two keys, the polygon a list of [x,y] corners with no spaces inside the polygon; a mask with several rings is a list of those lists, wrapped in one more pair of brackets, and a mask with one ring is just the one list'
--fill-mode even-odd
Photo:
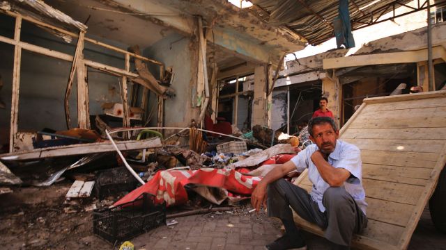
{"label": "rubble pile with red-and-white tarp and broken boards", "polygon": [[[300,151],[298,138],[279,139],[281,133],[268,137],[268,128],[220,135],[192,127],[165,140],[162,133],[148,129],[144,129],[148,138],[142,139],[142,130],[131,129],[130,140],[125,140],[128,132],[123,129],[38,133],[40,139],[30,146],[33,150],[0,155],[0,194],[64,185],[63,200],[51,209],[66,216],[88,213],[102,218],[104,222],[95,223],[93,232],[116,244],[157,225],[174,223],[169,219],[175,217],[235,213],[247,206],[240,201],[249,199],[262,176]],[[143,201],[147,195],[151,203]],[[158,207],[164,212],[146,217],[147,211]],[[119,231],[127,229],[104,224],[106,218],[121,214],[127,218],[121,224],[135,225],[144,218],[157,223],[133,228],[121,237]]]}

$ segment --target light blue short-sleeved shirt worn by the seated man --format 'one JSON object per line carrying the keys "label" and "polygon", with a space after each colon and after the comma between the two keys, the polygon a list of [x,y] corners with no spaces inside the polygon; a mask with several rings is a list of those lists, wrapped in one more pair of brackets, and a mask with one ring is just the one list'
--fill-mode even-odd
{"label": "light blue short-sleeved shirt worn by the seated man", "polygon": [[[313,183],[310,195],[313,201],[316,201],[321,212],[325,212],[322,204],[323,193],[330,185],[326,183],[321,174],[319,174],[316,165],[312,162],[312,154],[318,150],[316,144],[311,144],[297,156],[291,158],[291,161],[302,172],[308,168],[309,181]],[[362,163],[361,152],[355,145],[337,140],[334,151],[328,156],[328,163],[333,167],[344,168],[350,172],[351,176],[345,181],[344,187],[346,191],[355,199],[357,205],[361,208],[364,215],[366,213],[367,203],[365,202],[365,192],[362,187]]]}

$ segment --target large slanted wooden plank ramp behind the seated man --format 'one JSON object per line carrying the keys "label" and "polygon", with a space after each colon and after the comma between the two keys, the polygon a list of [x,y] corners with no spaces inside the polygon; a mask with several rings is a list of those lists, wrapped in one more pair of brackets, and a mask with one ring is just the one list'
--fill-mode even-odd
{"label": "large slanted wooden plank ramp behind the seated man", "polygon": [[[361,149],[369,224],[360,249],[406,249],[446,162],[446,91],[364,99],[340,131]],[[296,181],[310,191],[304,172]],[[321,228],[295,215],[301,228]]]}

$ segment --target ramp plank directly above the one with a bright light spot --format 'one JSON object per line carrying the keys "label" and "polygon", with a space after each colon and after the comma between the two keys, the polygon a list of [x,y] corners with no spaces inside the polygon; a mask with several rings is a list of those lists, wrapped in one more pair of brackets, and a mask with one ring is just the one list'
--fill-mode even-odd
{"label": "ramp plank directly above the one with a bright light spot", "polygon": [[342,135],[346,139],[446,139],[445,128],[349,128]]}

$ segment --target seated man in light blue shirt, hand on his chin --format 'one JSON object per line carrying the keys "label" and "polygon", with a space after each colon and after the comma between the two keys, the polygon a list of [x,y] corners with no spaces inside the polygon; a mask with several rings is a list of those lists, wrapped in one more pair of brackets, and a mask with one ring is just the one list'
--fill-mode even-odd
{"label": "seated man in light blue shirt, hand on his chin", "polygon": [[[268,216],[278,217],[285,226],[285,235],[266,249],[305,249],[291,208],[303,219],[323,228],[324,237],[332,242],[333,249],[349,249],[353,233],[367,226],[360,150],[337,140],[339,131],[330,117],[311,119],[308,132],[315,144],[272,169],[252,192],[252,206],[259,210],[268,201]],[[310,194],[282,178],[305,168],[313,183]]]}

